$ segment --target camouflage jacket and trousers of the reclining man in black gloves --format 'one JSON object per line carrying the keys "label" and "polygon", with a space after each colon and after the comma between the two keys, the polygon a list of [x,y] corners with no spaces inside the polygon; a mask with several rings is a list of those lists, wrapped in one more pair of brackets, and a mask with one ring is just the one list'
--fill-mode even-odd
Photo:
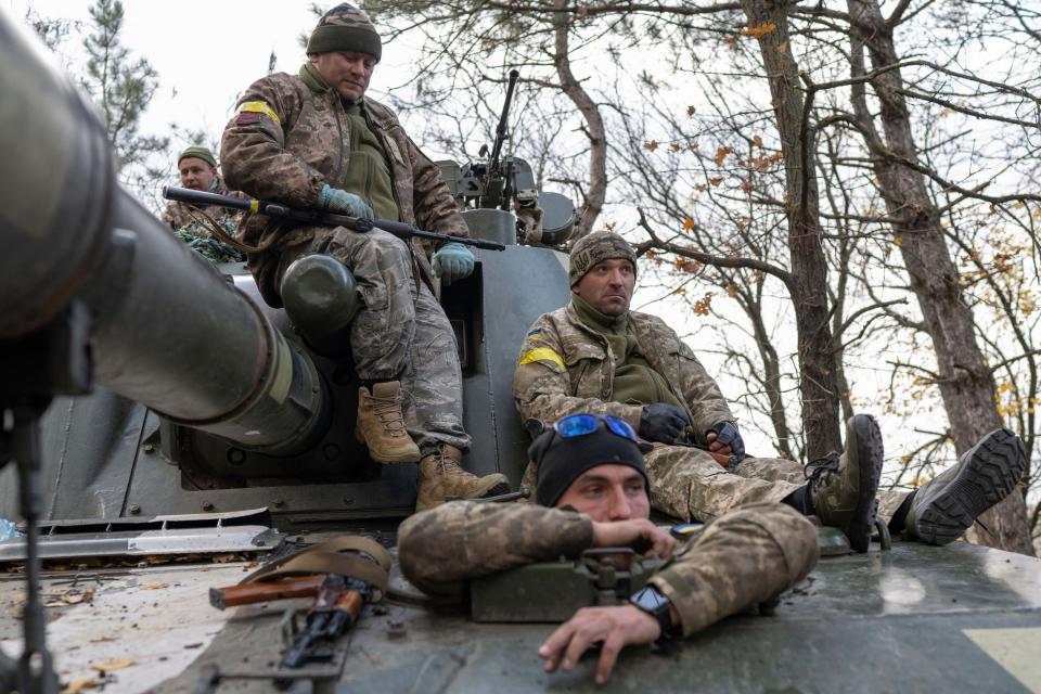
{"label": "camouflage jacket and trousers of the reclining man in black gloves", "polygon": [[[734,419],[716,382],[661,319],[629,311],[629,321],[641,354],[685,403],[693,440],[707,445],[705,432]],[[613,414],[639,430],[643,403],[611,399],[614,373],[607,339],[568,304],[528,331],[513,380],[517,409],[524,419],[547,422],[578,412]],[[683,446],[655,445],[645,463],[653,506],[677,518],[711,520],[737,506],[781,501],[806,484],[802,466],[788,460],[747,458],[731,474],[708,452]]]}

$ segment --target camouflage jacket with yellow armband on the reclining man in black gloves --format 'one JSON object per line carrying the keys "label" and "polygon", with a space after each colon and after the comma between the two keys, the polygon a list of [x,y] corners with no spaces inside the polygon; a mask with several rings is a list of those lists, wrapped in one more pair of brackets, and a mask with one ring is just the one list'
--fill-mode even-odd
{"label": "camouflage jacket with yellow armband on the reclining man in black gloves", "polygon": [[[734,417],[716,382],[680,336],[661,319],[629,312],[640,351],[686,403],[694,436]],[[513,377],[513,395],[524,419],[555,422],[577,412],[613,414],[640,428],[642,406],[611,400],[615,357],[607,339],[579,319],[571,303],[543,313],[525,337]]]}

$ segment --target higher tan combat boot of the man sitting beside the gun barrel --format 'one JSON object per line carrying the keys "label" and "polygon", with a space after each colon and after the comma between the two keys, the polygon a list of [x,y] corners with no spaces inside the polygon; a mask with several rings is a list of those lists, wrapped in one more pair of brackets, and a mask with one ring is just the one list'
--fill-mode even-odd
{"label": "higher tan combat boot of the man sitting beside the gun barrel", "polygon": [[420,449],[404,428],[399,382],[374,383],[372,394],[364,386],[358,388],[355,436],[369,448],[369,458],[378,463],[420,460]]}

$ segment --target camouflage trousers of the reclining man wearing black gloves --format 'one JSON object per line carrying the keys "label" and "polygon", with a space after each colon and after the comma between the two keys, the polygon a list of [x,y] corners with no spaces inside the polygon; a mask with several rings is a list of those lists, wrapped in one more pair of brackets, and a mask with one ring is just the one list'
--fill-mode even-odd
{"label": "camouflage trousers of the reclining man wearing black gloves", "polygon": [[[655,446],[644,463],[651,505],[670,516],[703,523],[749,504],[779,502],[808,484],[802,465],[783,458],[746,458],[731,473],[701,449]],[[886,522],[907,493],[879,493],[879,515]]]}

